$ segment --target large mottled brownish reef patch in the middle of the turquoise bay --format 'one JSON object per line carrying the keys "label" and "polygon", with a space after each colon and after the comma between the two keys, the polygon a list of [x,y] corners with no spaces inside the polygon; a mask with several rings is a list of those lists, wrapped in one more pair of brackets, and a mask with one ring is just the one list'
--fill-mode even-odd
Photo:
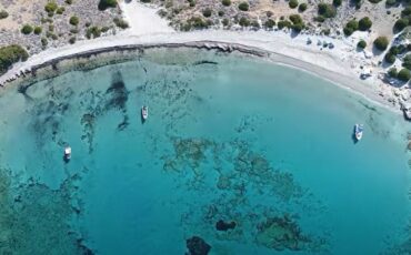
{"label": "large mottled brownish reef patch in the middle of the turquoise bay", "polygon": [[[304,216],[318,215],[322,204],[295,182],[292,173],[273,167],[267,156],[248,142],[203,137],[171,141],[173,152],[162,157],[163,170],[187,180],[186,192],[198,192],[199,197],[204,198],[189,206],[182,216],[181,223],[188,233],[208,233],[222,241],[249,241],[279,251],[327,249],[322,237],[325,234],[302,234],[298,222],[301,212],[295,211],[303,207]],[[207,193],[215,195],[210,200],[202,195]],[[199,207],[201,212],[193,213]],[[289,214],[292,217],[283,216]],[[232,218],[232,222],[222,218]],[[211,224],[217,231],[210,231]]]}

